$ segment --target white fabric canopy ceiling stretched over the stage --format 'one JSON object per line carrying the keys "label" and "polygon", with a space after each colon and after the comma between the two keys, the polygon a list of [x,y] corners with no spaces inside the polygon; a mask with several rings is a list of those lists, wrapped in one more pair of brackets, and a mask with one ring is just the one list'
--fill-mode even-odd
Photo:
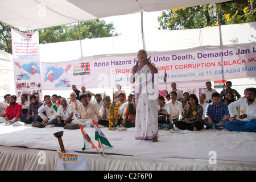
{"label": "white fabric canopy ceiling stretched over the stage", "polygon": [[228,0],[8,0],[0,1],[0,21],[21,31],[141,11],[160,11]]}

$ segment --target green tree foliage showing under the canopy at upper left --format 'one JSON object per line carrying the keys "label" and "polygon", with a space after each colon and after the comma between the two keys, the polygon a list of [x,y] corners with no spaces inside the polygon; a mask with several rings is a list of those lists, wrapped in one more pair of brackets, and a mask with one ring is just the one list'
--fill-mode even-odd
{"label": "green tree foliage showing under the canopy at upper left", "polygon": [[[17,30],[16,28],[14,28]],[[106,24],[104,20],[91,20],[88,22],[80,22],[81,39],[104,38],[109,36],[117,36],[114,33],[115,27],[113,23]],[[34,32],[36,30],[28,31]],[[79,40],[79,24],[69,24],[65,26],[56,26],[43,28],[38,30],[39,43],[55,43],[71,40]],[[12,53],[11,50],[11,27],[0,22],[0,49]]]}

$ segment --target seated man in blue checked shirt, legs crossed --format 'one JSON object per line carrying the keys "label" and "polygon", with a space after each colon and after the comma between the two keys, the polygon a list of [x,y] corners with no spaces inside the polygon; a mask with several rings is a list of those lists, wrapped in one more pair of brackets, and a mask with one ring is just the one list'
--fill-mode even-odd
{"label": "seated man in blue checked shirt, legs crossed", "polygon": [[216,129],[224,128],[224,123],[230,118],[228,105],[221,102],[220,94],[217,92],[212,94],[212,101],[205,109],[205,129],[210,129],[213,126]]}

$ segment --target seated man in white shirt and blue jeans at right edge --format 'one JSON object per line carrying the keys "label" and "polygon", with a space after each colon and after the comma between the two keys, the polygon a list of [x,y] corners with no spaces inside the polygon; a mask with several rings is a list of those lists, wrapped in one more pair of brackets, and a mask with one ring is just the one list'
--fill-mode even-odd
{"label": "seated man in white shirt and blue jeans at right edge", "polygon": [[[229,131],[256,131],[256,88],[247,90],[247,98],[229,104],[229,113],[232,121],[225,122],[225,129]],[[234,115],[234,107],[240,107],[238,119]]]}

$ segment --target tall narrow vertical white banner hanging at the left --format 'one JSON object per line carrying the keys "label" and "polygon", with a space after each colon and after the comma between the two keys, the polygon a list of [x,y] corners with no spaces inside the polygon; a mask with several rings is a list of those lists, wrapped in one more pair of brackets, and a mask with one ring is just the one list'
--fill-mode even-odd
{"label": "tall narrow vertical white banner hanging at the left", "polygon": [[23,93],[41,96],[38,31],[30,34],[11,29],[11,44],[17,100]]}

